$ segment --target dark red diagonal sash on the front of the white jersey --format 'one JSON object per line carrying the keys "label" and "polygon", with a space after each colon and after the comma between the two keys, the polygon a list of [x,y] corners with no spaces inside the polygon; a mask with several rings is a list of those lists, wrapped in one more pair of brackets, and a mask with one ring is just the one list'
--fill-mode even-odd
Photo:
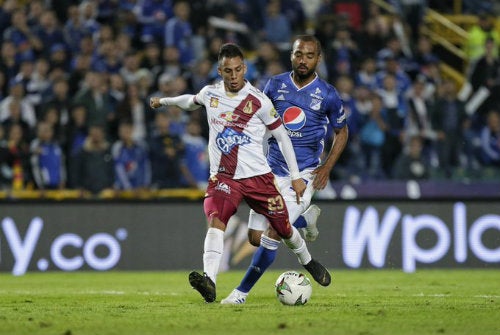
{"label": "dark red diagonal sash on the front of the white jersey", "polygon": [[[234,114],[238,115],[238,122],[234,122],[231,126],[226,127],[233,129],[239,133],[243,132],[244,126],[250,121],[253,115],[260,109],[261,102],[255,96],[249,94],[244,98],[241,103],[236,107],[233,111]],[[234,176],[236,172],[236,166],[238,165],[238,150],[239,145],[235,146],[231,149],[229,154],[222,155],[221,160],[219,162],[218,171],[220,173],[224,173],[225,175],[229,175],[230,177]]]}

